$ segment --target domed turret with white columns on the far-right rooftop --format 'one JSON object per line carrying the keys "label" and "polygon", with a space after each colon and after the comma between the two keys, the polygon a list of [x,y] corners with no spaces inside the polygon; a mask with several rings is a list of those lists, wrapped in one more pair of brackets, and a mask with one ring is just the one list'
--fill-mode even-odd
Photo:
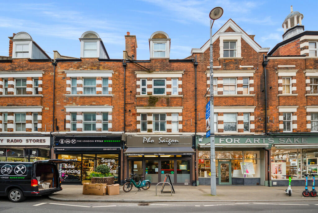
{"label": "domed turret with white columns on the far-right rooftop", "polygon": [[304,26],[301,25],[301,20],[303,18],[303,14],[298,11],[293,11],[293,6],[290,6],[290,13],[282,24],[282,27],[284,28],[283,40],[304,32]]}

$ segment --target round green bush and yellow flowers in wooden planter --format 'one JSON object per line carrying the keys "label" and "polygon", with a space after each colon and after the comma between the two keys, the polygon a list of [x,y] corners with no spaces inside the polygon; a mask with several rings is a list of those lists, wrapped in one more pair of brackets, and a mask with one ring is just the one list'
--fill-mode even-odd
{"label": "round green bush and yellow flowers in wooden planter", "polygon": [[114,184],[115,177],[110,173],[110,168],[106,164],[101,164],[96,167],[96,172],[92,172],[91,183],[106,183],[107,185]]}

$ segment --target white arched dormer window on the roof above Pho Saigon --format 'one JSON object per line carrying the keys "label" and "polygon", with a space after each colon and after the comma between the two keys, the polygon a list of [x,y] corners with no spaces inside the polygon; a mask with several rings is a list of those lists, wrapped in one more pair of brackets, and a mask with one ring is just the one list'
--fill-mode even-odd
{"label": "white arched dormer window on the roof above Pho Saigon", "polygon": [[150,58],[169,58],[170,39],[168,34],[157,31],[149,39]]}

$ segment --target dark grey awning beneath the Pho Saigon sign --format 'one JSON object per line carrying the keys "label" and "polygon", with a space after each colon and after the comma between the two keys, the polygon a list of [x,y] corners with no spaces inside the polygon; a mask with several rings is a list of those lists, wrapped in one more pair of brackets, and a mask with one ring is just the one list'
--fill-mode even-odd
{"label": "dark grey awning beneath the Pho Saigon sign", "polygon": [[128,147],[125,155],[194,155],[190,146]]}

